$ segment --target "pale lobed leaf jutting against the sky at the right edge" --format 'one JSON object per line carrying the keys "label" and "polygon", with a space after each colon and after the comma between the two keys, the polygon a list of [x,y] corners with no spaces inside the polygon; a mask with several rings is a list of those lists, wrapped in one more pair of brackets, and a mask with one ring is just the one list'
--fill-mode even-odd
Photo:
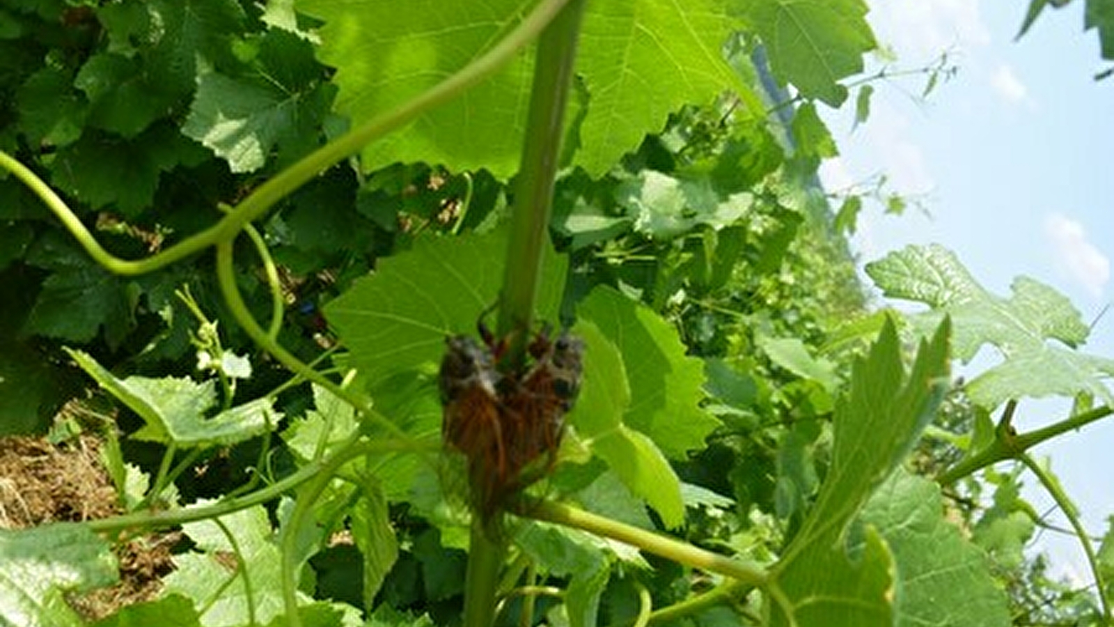
{"label": "pale lobed leaf jutting against the sky at the right edge", "polygon": [[979,405],[993,408],[1009,398],[1079,393],[1114,403],[1103,382],[1114,376],[1114,359],[1074,350],[1089,330],[1053,288],[1018,277],[1013,296],[1001,298],[978,284],[955,253],[935,244],[892,252],[868,263],[867,274],[890,298],[930,306],[932,311],[912,316],[921,328],[950,316],[956,356],[964,361],[984,344],[998,348],[1004,361],[968,383],[967,392]]}

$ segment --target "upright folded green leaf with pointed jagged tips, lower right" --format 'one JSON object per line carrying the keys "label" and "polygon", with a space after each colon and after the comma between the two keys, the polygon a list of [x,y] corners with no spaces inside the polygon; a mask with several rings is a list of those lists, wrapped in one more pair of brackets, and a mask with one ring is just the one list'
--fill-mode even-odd
{"label": "upright folded green leaf with pointed jagged tips, lower right", "polygon": [[856,560],[848,525],[931,421],[948,387],[949,324],[922,340],[907,373],[888,321],[852,368],[851,390],[833,418],[832,460],[815,504],[774,569],[773,625],[892,625],[892,557],[874,527]]}

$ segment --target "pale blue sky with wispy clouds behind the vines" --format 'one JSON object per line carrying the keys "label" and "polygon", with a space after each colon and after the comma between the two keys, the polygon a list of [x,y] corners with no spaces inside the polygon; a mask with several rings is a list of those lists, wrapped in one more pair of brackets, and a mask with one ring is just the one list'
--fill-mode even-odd
{"label": "pale blue sky with wispy clouds behind the vines", "polygon": [[[1091,322],[1114,295],[1114,77],[1093,79],[1105,65],[1096,33],[1083,31],[1082,1],[1046,10],[1015,41],[1026,4],[871,2],[868,19],[898,67],[926,66],[948,50],[959,71],[927,102],[917,97],[922,77],[876,84],[870,119],[853,131],[851,112],[829,112],[841,155],[822,177],[836,191],[886,174],[892,191],[926,210],[891,216],[866,209],[852,242],[863,262],[937,242],[991,291],[1007,296],[1013,279],[1026,274],[1066,295]],[[1114,310],[1083,350],[1114,357]],[[993,364],[993,354],[976,361]],[[1032,428],[1066,411],[1063,403],[1026,402],[1017,424]],[[1112,451],[1114,419],[1035,451],[1052,457],[1097,534],[1114,514]],[[1027,494],[1038,511],[1051,503],[1039,491]],[[1045,534],[1040,547],[1057,571],[1089,580],[1074,544]]]}

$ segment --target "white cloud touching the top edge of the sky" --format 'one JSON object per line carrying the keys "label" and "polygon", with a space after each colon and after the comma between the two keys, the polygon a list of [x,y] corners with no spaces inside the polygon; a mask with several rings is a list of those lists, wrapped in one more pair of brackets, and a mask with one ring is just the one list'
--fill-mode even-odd
{"label": "white cloud touching the top edge of the sky", "polygon": [[870,23],[879,39],[910,62],[951,48],[970,49],[990,42],[977,0],[874,0]]}

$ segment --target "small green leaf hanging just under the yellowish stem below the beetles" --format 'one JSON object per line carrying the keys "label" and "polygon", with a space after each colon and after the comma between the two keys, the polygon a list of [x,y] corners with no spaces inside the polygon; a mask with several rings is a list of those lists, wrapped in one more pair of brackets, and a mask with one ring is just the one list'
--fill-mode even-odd
{"label": "small green leaf hanging just under the yellowish stem below the beetles", "polygon": [[530,522],[515,543],[550,575],[571,577],[565,590],[571,627],[598,624],[599,598],[612,572],[612,559],[599,540],[575,529]]}

